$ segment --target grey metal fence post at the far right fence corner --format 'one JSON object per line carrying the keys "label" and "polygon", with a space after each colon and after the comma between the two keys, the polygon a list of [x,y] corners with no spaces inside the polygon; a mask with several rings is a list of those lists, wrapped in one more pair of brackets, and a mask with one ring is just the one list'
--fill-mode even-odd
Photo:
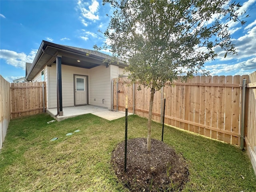
{"label": "grey metal fence post at the far right fence corner", "polygon": [[244,148],[244,124],[245,124],[245,102],[246,102],[246,79],[243,80],[242,86],[242,127],[241,127],[241,140],[240,140],[240,147],[241,149]]}

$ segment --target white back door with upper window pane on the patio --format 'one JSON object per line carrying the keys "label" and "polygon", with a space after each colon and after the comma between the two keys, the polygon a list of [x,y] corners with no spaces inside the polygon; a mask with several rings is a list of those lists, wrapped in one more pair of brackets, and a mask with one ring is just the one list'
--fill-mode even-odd
{"label": "white back door with upper window pane on the patio", "polygon": [[75,105],[87,104],[86,98],[86,77],[75,76]]}

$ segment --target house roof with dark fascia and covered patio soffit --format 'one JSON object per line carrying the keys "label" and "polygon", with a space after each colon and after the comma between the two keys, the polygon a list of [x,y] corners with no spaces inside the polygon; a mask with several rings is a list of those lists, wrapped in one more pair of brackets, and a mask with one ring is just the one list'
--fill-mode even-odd
{"label": "house roof with dark fascia and covered patio soffit", "polygon": [[[26,68],[26,80],[32,80],[44,66],[56,62],[55,57],[57,55],[61,55],[62,64],[81,68],[90,69],[100,65],[108,67],[109,64],[117,65],[120,68],[128,66],[121,60],[98,51],[60,45],[43,40],[29,70]],[[80,62],[77,62],[77,60],[80,60]],[[29,64],[26,66],[29,67]]]}

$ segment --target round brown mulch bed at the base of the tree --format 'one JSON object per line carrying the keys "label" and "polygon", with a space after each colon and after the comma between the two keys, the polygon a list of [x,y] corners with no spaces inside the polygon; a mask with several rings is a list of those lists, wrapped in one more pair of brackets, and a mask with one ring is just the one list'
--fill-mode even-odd
{"label": "round brown mulch bed at the base of the tree", "polygon": [[146,138],[127,141],[127,170],[124,172],[124,142],[112,152],[116,176],[132,192],[181,191],[188,181],[188,165],[174,149],[159,140],[151,140],[147,152]]}

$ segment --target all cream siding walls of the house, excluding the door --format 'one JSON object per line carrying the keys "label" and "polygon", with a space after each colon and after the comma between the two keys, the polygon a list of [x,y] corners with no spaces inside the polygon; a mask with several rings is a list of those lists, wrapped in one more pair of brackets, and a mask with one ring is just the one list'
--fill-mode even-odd
{"label": "all cream siding walls of the house, excluding the door", "polygon": [[[34,82],[42,81],[41,71],[34,77]],[[108,68],[106,66],[98,66],[92,69],[62,65],[63,107],[74,106],[74,74],[88,76],[89,104],[111,109],[112,78],[123,75],[122,69],[114,65],[110,65]],[[47,108],[56,108],[56,64],[52,64],[51,67],[44,67],[44,80],[46,82]],[[103,103],[102,99],[104,99]]]}

